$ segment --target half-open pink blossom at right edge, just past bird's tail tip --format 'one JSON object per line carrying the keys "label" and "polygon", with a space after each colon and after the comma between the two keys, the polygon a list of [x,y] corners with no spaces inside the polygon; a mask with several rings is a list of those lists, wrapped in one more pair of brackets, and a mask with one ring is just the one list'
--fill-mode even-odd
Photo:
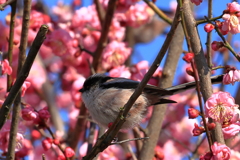
{"label": "half-open pink blossom at right edge, just past bird's tail tip", "polygon": [[240,71],[237,69],[230,70],[223,76],[223,84],[232,84],[240,81]]}

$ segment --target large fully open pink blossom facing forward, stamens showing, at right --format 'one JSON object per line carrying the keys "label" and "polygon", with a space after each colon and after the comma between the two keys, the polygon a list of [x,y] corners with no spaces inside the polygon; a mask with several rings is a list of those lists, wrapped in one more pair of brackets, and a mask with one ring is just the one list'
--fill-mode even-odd
{"label": "large fully open pink blossom facing forward, stamens showing, at right", "polygon": [[237,111],[234,98],[228,92],[216,92],[205,103],[206,116],[220,123],[230,121]]}

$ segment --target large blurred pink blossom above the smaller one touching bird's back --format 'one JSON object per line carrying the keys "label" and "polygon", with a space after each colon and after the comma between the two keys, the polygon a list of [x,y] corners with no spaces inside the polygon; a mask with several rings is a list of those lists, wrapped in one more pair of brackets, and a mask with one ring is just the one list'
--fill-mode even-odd
{"label": "large blurred pink blossom above the smaller one touching bird's back", "polygon": [[102,66],[104,69],[111,69],[122,65],[130,56],[132,49],[126,47],[123,42],[112,41],[103,51]]}

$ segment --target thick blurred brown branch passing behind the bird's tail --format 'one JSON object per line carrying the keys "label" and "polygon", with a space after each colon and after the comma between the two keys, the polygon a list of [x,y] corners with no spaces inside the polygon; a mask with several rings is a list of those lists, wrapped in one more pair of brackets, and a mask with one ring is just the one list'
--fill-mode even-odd
{"label": "thick blurred brown branch passing behind the bird's tail", "polygon": [[[177,7],[175,18],[177,18],[178,23],[180,21],[179,6]],[[174,19],[173,25],[176,23]],[[168,33],[170,34],[171,31]],[[173,40],[169,45],[168,55],[166,57],[165,65],[162,71],[162,77],[159,81],[158,87],[165,88],[172,86],[172,81],[174,79],[175,71],[177,68],[177,62],[182,53],[183,44],[183,31],[181,25],[177,26],[176,32],[174,34]],[[147,126],[147,134],[150,139],[144,141],[142,151],[138,156],[139,160],[153,159],[155,152],[154,149],[159,140],[159,134],[163,130],[164,117],[166,115],[167,105],[157,105],[153,108],[151,118]]]}

